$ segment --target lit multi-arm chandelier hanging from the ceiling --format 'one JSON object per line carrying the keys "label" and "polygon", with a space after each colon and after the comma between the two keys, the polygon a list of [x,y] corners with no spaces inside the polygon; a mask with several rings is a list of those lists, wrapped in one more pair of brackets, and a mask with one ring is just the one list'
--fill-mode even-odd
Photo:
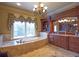
{"label": "lit multi-arm chandelier hanging from the ceiling", "polygon": [[47,13],[47,6],[39,2],[38,5],[34,5],[33,12],[36,15],[43,15]]}

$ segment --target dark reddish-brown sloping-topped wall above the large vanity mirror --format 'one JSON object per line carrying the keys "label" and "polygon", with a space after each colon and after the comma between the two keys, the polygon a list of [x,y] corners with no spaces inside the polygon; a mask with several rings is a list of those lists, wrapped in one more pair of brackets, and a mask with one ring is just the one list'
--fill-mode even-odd
{"label": "dark reddish-brown sloping-topped wall above the large vanity mirror", "polygon": [[79,6],[76,6],[72,9],[56,14],[57,19],[63,17],[74,17],[74,16],[79,16]]}

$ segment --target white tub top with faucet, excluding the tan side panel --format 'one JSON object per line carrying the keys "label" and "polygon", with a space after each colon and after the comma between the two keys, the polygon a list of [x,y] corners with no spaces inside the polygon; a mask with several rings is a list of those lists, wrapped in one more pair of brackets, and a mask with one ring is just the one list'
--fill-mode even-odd
{"label": "white tub top with faucet, excluding the tan side panel", "polygon": [[17,40],[7,41],[0,44],[0,47],[8,47],[8,46],[15,46],[15,45],[21,45],[31,42],[36,42],[39,40],[47,39],[46,37],[31,37],[31,38],[21,38]]}

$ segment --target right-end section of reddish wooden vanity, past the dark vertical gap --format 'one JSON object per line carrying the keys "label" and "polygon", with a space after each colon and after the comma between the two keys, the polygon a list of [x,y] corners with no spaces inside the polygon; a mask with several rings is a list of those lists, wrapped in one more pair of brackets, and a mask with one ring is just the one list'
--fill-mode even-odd
{"label": "right-end section of reddish wooden vanity, past the dark vertical gap", "polygon": [[70,37],[69,49],[79,53],[79,37]]}

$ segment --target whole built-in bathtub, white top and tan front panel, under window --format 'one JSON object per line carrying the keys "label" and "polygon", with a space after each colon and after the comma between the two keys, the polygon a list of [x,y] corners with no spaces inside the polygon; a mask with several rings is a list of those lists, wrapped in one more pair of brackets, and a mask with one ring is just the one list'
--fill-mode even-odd
{"label": "whole built-in bathtub, white top and tan front panel, under window", "polygon": [[47,44],[48,40],[44,37],[23,38],[4,42],[0,45],[0,51],[7,52],[9,56],[20,56]]}

